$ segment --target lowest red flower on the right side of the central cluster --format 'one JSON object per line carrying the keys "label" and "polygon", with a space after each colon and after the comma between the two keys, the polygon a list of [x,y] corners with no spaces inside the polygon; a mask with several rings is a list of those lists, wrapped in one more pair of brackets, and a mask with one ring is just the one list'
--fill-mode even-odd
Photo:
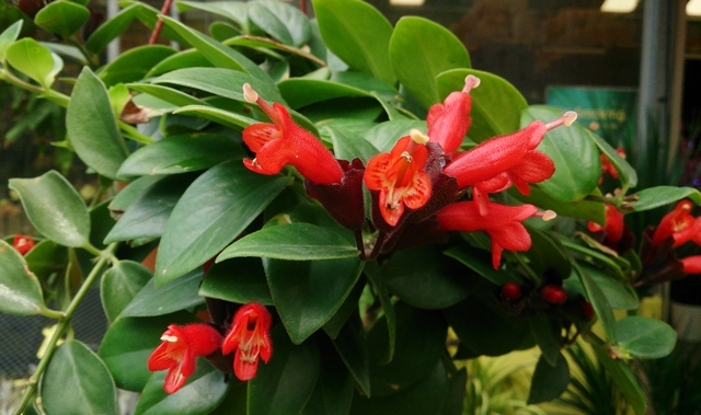
{"label": "lowest red flower on the right side of the central cluster", "polygon": [[482,216],[473,201],[459,201],[440,210],[437,215],[440,228],[446,231],[485,231],[492,238],[492,265],[497,269],[502,262],[502,251],[528,251],[530,234],[520,223],[531,216],[543,220],[554,217],[554,212],[539,214],[533,205],[506,206],[491,203],[489,212]]}

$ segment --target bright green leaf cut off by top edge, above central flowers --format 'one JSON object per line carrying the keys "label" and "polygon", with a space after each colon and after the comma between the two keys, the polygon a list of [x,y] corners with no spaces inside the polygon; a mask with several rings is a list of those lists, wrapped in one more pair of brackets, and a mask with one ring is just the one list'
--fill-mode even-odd
{"label": "bright green leaf cut off by top edge, above central flowers", "polygon": [[392,25],[360,0],[312,0],[324,43],[348,66],[394,84],[389,56]]}

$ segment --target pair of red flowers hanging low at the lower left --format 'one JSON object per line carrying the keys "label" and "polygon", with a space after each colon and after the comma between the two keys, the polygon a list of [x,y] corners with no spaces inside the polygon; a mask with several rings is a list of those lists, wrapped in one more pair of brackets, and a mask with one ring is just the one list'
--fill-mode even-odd
{"label": "pair of red flowers hanging low at the lower left", "polygon": [[267,364],[273,354],[271,320],[265,307],[250,302],[237,311],[226,336],[205,323],[169,325],[161,336],[163,343],[149,357],[149,370],[168,370],[163,389],[174,393],[195,372],[198,356],[210,357],[218,353],[229,355],[235,350],[234,374],[242,381],[253,379],[258,358]]}

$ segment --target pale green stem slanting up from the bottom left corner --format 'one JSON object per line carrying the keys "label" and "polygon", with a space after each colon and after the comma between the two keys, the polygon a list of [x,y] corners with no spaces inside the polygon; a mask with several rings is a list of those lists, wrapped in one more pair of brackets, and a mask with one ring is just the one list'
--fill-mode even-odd
{"label": "pale green stem slanting up from the bottom left corner", "polygon": [[88,278],[85,278],[78,292],[76,292],[76,297],[73,297],[70,304],[68,304],[68,309],[66,309],[66,315],[58,322],[56,331],[54,332],[54,335],[51,336],[51,339],[46,347],[46,351],[44,353],[44,356],[42,356],[39,364],[36,366],[34,374],[32,374],[32,377],[28,379],[28,384],[24,390],[24,395],[22,396],[22,400],[20,401],[18,407],[14,408],[13,415],[21,415],[26,405],[30,404],[32,396],[34,396],[34,393],[36,392],[36,387],[38,384],[39,378],[44,373],[44,370],[46,370],[46,367],[48,366],[48,362],[54,355],[54,350],[56,349],[58,341],[66,332],[66,328],[68,328],[68,326],[70,325],[71,316],[76,312],[76,309],[78,309],[78,306],[82,301],[83,297],[85,297],[85,293],[88,293],[88,290],[90,289],[92,284],[100,275],[102,267],[105,266],[105,264],[112,261],[112,258],[114,257],[114,251],[116,247],[117,243],[115,242],[107,246],[104,252],[101,252],[100,260],[97,260],[97,263],[92,268],[90,275],[88,275]]}

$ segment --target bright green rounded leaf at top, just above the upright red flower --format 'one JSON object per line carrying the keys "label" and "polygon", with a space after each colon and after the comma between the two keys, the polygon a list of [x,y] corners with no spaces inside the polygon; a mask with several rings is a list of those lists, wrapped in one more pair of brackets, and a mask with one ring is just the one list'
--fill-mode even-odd
{"label": "bright green rounded leaf at top, just above the upright red flower", "polygon": [[[471,67],[468,50],[456,35],[416,16],[405,16],[397,23],[390,39],[390,60],[399,81],[426,108],[441,101],[438,74]],[[462,87],[457,91],[460,90]]]}

